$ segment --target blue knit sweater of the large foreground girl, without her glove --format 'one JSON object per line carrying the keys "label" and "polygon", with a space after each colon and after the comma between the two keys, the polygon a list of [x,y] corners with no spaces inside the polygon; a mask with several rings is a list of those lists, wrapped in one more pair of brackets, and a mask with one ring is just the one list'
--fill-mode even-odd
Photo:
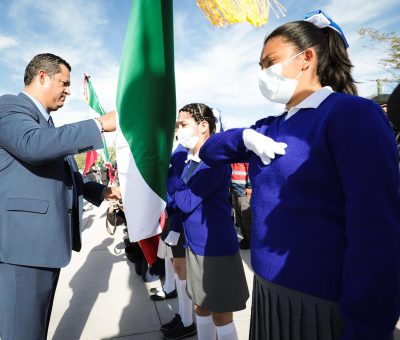
{"label": "blue knit sweater of the large foreground girl, without her glove", "polygon": [[287,143],[286,154],[264,166],[233,129],[212,136],[200,158],[250,163],[255,272],[339,302],[341,339],[389,339],[399,316],[399,165],[382,110],[333,93],[252,128]]}

